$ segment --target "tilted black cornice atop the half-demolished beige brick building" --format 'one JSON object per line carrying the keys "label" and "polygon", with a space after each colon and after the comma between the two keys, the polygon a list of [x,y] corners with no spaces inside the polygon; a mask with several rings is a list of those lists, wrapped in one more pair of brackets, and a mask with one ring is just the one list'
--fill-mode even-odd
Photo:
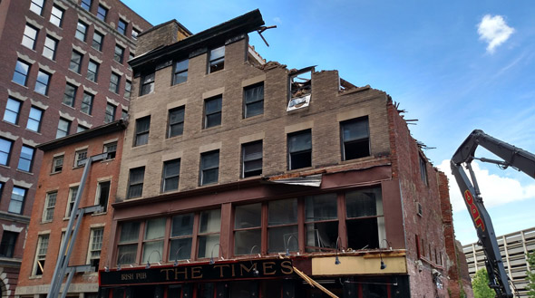
{"label": "tilted black cornice atop the half-demolished beige brick building", "polygon": [[248,34],[251,31],[257,30],[264,24],[262,14],[256,9],[247,14],[235,17],[225,23],[218,24],[199,32],[198,34],[191,35],[177,43],[172,43],[159,49],[152,50],[151,52],[143,53],[139,57],[129,61],[129,63],[131,67],[135,69],[146,62],[154,62],[164,56],[169,56],[182,50],[206,46],[207,43],[209,43],[209,40],[223,40],[238,34]]}

